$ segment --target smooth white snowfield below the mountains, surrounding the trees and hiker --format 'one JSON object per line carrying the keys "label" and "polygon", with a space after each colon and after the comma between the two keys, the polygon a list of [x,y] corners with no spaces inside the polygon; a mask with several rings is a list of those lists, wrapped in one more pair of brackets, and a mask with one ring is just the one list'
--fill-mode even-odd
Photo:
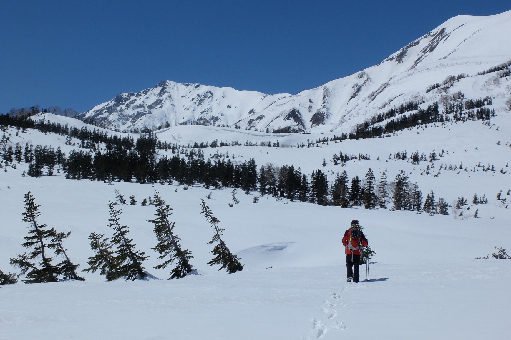
{"label": "smooth white snowfield below the mountains, surrounding the trees and hiker", "polygon": [[[318,168],[329,180],[344,169],[349,177],[363,178],[371,167],[377,179],[386,171],[388,179],[404,170],[411,182],[419,183],[423,195],[434,190],[435,197],[449,203],[464,196],[479,218],[454,219],[450,215],[429,216],[411,211],[341,209],[311,203],[277,201],[257,192],[245,195],[234,207],[231,188],[206,190],[200,185],[162,186],[89,180],[66,180],[64,174],[22,177],[27,164],[0,171],[0,269],[14,272],[9,259],[26,251],[20,244],[28,226],[21,222],[23,195],[31,191],[40,204],[41,223],[60,231],[71,231],[65,247],[80,269],[92,252],[90,231],[111,236],[107,227],[108,200],[114,189],[137,205],[122,205],[121,223],[130,228],[136,249],[149,255],[146,270],[161,280],[105,282],[104,277],[82,273],[84,282],[58,282],[0,286],[0,328],[5,339],[337,339],[368,338],[506,338],[511,311],[508,294],[511,260],[477,260],[495,251],[511,249],[511,209],[496,194],[511,185],[506,162],[511,160],[511,117],[500,110],[503,99],[493,106],[497,116],[491,126],[481,122],[424,126],[382,139],[345,140],[319,143],[314,148],[222,147],[203,149],[204,154],[235,154],[233,161],[254,158],[258,167],[272,162],[294,164],[303,173]],[[44,115],[45,119],[67,122],[66,117]],[[42,117],[41,117],[42,118]],[[499,127],[499,129],[497,129]],[[89,127],[91,128],[91,127]],[[31,142],[58,145],[68,153],[76,145],[65,145],[65,136],[28,130],[15,136],[8,129],[10,143]],[[122,134],[127,135],[127,134]],[[136,138],[136,134],[132,134]],[[246,130],[180,126],[157,133],[161,140],[182,144],[213,141],[279,141],[296,145],[307,139],[330,136],[272,135]],[[501,141],[497,144],[497,141]],[[434,164],[412,165],[407,160],[389,158],[400,151],[429,154],[442,152]],[[442,151],[444,150],[444,151]],[[333,165],[334,153],[368,154],[370,160],[352,160]],[[159,151],[161,156],[171,152]],[[322,159],[328,164],[321,167]],[[377,158],[379,157],[379,160]],[[440,164],[460,162],[467,171],[440,171]],[[477,163],[495,164],[495,172],[482,172]],[[430,176],[423,174],[432,166]],[[7,170],[7,172],[5,172]],[[475,172],[474,172],[474,171]],[[174,209],[175,231],[181,245],[195,256],[191,263],[200,275],[167,280],[168,270],[155,270],[160,263],[152,225],[154,206],[142,207],[143,198],[157,190]],[[206,196],[212,192],[212,199]],[[486,195],[489,204],[470,204],[471,198]],[[217,271],[206,262],[213,257],[207,245],[212,228],[200,214],[199,200],[205,199],[225,228],[227,246],[241,258],[245,268],[235,274]],[[370,264],[371,281],[347,283],[341,238],[351,220],[357,219],[376,251]],[[361,266],[361,279],[366,277]]]}

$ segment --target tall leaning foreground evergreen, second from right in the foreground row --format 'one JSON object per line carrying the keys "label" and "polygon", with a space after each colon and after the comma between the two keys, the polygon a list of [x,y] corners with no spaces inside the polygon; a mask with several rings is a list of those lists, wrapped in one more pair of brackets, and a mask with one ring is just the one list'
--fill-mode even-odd
{"label": "tall leaning foreground evergreen, second from right in the foreground row", "polygon": [[[257,196],[256,196],[257,197]],[[161,264],[158,264],[154,269],[166,268],[169,264],[172,264],[177,260],[177,265],[170,272],[171,279],[179,279],[187,276],[192,271],[193,266],[189,263],[190,259],[193,258],[192,252],[187,249],[182,249],[179,242],[181,238],[174,233],[175,222],[169,221],[169,216],[172,214],[170,211],[172,208],[166,204],[161,198],[157,191],[154,192],[154,205],[156,206],[156,218],[154,220],[148,220],[154,224],[154,233],[156,234],[156,240],[158,244],[154,249],[160,256],[160,260],[168,258]]]}

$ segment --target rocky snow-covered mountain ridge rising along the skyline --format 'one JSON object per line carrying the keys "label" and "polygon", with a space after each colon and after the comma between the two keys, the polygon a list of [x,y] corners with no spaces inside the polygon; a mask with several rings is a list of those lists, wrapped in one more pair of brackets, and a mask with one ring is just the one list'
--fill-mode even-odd
{"label": "rocky snow-covered mountain ridge rising along the skyline", "polygon": [[[498,95],[495,74],[478,73],[511,60],[511,11],[459,15],[409,43],[381,63],[320,87],[264,94],[230,87],[164,81],[154,88],[120,93],[79,115],[106,129],[137,132],[199,124],[258,131],[327,132],[349,129],[375,113],[449,92],[467,98]],[[449,76],[468,75],[455,86],[428,91]]]}

